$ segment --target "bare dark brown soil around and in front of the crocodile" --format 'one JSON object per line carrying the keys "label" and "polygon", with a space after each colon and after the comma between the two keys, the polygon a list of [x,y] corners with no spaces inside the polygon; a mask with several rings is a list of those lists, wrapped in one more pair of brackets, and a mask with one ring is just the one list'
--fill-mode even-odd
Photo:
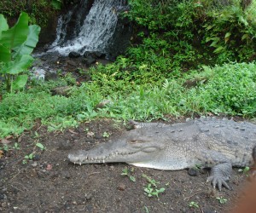
{"label": "bare dark brown soil around and in front of the crocodile", "polygon": [[[153,170],[121,163],[80,166],[68,162],[71,151],[114,140],[124,131],[123,123],[109,119],[64,132],[48,132],[38,123],[19,138],[4,141],[13,148],[4,151],[0,159],[0,212],[213,213],[228,212],[236,206],[239,190],[246,182],[246,176],[237,169],[230,180],[232,190],[214,192],[206,183],[209,170],[189,176],[188,170]],[[15,148],[15,142],[20,149]],[[46,149],[40,150],[36,143]],[[33,159],[26,159],[30,153]],[[135,180],[121,175],[125,168]],[[165,188],[158,198],[145,193],[148,180],[143,175],[157,181],[158,189]],[[226,202],[220,204],[217,197]]]}

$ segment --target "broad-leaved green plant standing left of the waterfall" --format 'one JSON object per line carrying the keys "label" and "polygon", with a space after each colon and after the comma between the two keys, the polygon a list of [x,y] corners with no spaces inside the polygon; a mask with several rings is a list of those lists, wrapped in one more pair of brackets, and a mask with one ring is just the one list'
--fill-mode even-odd
{"label": "broad-leaved green plant standing left of the waterfall", "polygon": [[10,29],[0,14],[0,74],[5,79],[8,92],[25,86],[27,75],[22,72],[32,64],[30,54],[38,43],[39,32],[39,26],[28,26],[28,14],[24,12]]}

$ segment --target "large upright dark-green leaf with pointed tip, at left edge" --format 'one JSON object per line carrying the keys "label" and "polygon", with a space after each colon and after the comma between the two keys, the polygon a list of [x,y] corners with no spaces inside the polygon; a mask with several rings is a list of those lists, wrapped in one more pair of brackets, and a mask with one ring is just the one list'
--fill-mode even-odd
{"label": "large upright dark-green leaf with pointed tip, at left edge", "polygon": [[26,41],[28,31],[28,14],[23,12],[15,26],[2,32],[1,43],[9,49],[14,49]]}

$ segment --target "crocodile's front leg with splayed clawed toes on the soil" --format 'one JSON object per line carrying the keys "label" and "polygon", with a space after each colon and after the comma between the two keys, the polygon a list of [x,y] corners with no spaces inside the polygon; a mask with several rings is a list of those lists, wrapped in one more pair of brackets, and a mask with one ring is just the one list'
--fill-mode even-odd
{"label": "crocodile's front leg with splayed clawed toes on the soil", "polygon": [[217,164],[212,167],[211,174],[207,178],[207,182],[212,182],[212,187],[218,186],[219,191],[221,191],[222,185],[228,189],[230,186],[226,181],[230,180],[232,173],[232,165],[230,163]]}

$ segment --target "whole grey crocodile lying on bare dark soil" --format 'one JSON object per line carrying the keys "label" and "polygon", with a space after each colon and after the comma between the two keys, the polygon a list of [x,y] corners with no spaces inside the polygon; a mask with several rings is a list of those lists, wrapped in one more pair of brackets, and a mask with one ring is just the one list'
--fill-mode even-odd
{"label": "whole grey crocodile lying on bare dark soil", "polygon": [[207,182],[230,189],[232,166],[256,162],[256,125],[231,119],[198,118],[184,123],[133,123],[118,139],[68,154],[74,164],[124,162],[157,170],[212,168]]}

